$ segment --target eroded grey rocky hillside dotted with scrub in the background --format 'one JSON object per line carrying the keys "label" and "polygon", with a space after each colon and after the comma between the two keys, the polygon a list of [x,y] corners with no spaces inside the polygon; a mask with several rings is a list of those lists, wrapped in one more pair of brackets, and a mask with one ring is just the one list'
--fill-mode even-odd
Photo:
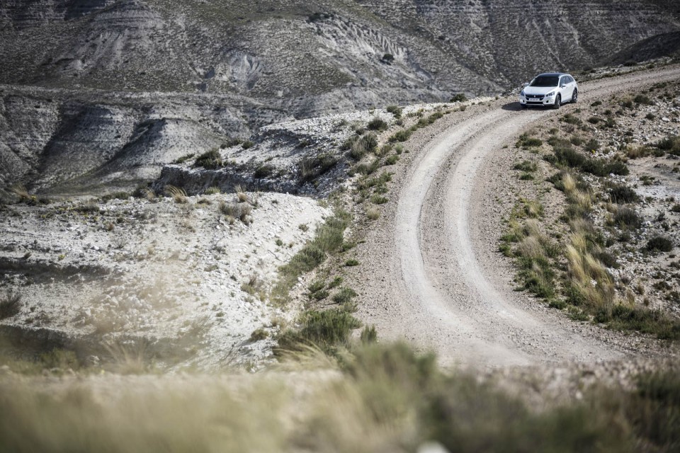
{"label": "eroded grey rocky hillside dotted with scrub in the background", "polygon": [[677,52],[672,1],[7,0],[0,185],[129,189],[263,125]]}

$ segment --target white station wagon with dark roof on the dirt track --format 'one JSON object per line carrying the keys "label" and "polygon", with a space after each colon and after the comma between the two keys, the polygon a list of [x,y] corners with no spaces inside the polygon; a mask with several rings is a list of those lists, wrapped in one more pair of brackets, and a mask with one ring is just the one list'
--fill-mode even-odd
{"label": "white station wagon with dark roof on the dirt track", "polygon": [[550,105],[560,108],[565,102],[579,100],[579,86],[570,74],[548,72],[536,76],[519,93],[519,103],[522,108],[544,107]]}

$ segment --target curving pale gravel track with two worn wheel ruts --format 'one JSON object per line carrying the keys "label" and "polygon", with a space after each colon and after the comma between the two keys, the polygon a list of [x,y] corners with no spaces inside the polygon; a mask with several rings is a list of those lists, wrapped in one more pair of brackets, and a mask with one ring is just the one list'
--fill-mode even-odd
{"label": "curving pale gravel track with two worn wheel ruts", "polygon": [[[680,68],[670,67],[582,84],[581,102],[679,77]],[[504,145],[574,108],[519,111],[504,99],[447,115],[408,143],[410,157],[395,176],[396,203],[366,232],[368,247],[360,251],[370,270],[358,277],[360,315],[382,338],[431,348],[444,365],[593,362],[641,353],[640,338],[572,322],[513,292],[512,269],[496,251],[505,212],[494,199],[515,199],[502,174]]]}

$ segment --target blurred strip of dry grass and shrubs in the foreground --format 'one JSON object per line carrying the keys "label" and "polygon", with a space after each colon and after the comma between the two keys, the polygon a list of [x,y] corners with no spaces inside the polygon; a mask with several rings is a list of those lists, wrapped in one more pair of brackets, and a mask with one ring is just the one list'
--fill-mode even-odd
{"label": "blurred strip of dry grass and shrubs in the foreground", "polygon": [[[260,374],[0,376],[2,452],[628,452],[680,448],[680,378],[529,408],[402,343]],[[305,357],[306,355],[306,357]],[[311,364],[315,364],[310,366]],[[11,364],[10,364],[11,367]]]}

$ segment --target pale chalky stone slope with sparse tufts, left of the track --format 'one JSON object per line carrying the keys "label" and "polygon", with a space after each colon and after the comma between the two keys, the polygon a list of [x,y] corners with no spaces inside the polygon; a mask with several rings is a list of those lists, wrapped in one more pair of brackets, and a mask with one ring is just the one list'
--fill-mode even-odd
{"label": "pale chalky stone slope with sparse tufts, left of the track", "polygon": [[3,322],[103,340],[169,339],[208,367],[265,359],[273,340],[251,343],[251,333],[273,333],[271,319],[295,316],[271,306],[268,289],[331,211],[307,197],[247,195],[249,225],[220,212],[235,194],[112,200],[98,212],[81,202],[13,206],[0,216],[0,260],[13,263],[0,284],[21,292],[23,308]]}

